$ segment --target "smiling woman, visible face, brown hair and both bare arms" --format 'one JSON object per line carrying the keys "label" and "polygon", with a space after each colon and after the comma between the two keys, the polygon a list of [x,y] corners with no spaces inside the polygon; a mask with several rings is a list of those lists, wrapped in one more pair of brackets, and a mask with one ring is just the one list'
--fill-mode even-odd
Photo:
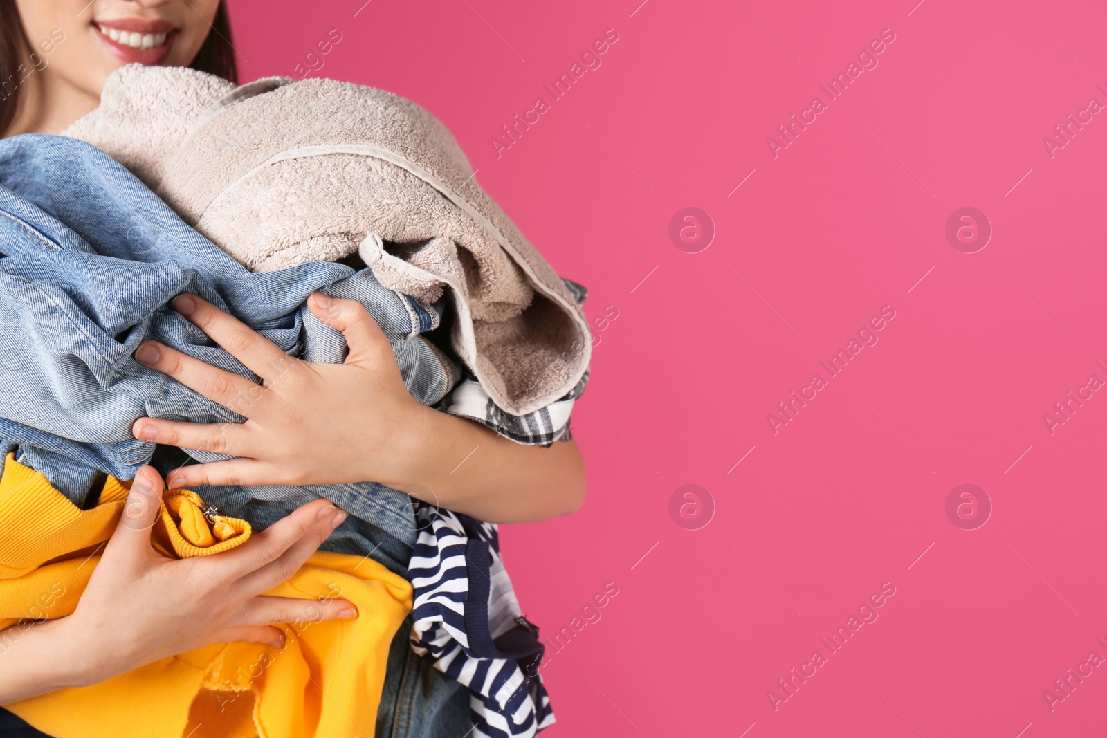
{"label": "smiling woman, visible face, brown hair and both bare arms", "polygon": [[[0,133],[61,132],[96,106],[104,80],[126,63],[192,65],[234,80],[226,10],[219,0],[0,0]],[[247,366],[279,353],[203,300],[182,295],[174,308]],[[135,423],[137,438],[241,457],[176,469],[170,487],[373,480],[492,522],[540,520],[580,506],[583,464],[575,441],[523,446],[421,405],[360,304],[317,293],[310,308],[345,334],[344,364],[297,362],[267,385],[245,424],[226,430]],[[217,402],[244,382],[151,342],[135,357]],[[0,704],[95,684],[210,643],[280,644],[272,625],[311,606],[262,593],[307,561],[344,512],[317,500],[245,545],[206,558],[201,569],[151,549],[162,489],[157,471],[143,467],[76,612],[6,642]],[[349,603],[335,604],[329,617],[356,616]]]}

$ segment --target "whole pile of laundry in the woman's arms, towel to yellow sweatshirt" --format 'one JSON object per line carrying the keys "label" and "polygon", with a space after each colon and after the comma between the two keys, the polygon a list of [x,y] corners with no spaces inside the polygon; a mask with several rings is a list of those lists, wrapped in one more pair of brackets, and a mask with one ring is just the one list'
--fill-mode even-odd
{"label": "whole pile of laundry in the woman's arms, towel to yellow sweatshirt", "polygon": [[[358,300],[414,397],[518,443],[568,439],[588,380],[584,289],[560,279],[480,189],[437,119],[370,87],[236,86],[125,66],[63,136],[0,142],[0,250],[3,626],[40,617],[43,588],[45,616],[73,611],[138,467],[226,458],[131,434],[144,416],[245,420],[133,357],[155,339],[259,381],[173,311],[183,292],[290,355],[332,363],[344,339],[304,301],[317,290]],[[188,495],[163,510],[155,534],[169,555],[237,545],[318,497],[346,510],[284,586],[320,599],[338,588],[362,615],[312,624],[276,654],[209,646],[9,709],[55,736],[122,735],[136,706],[163,726],[132,721],[143,736],[352,735],[339,726],[374,725],[389,644],[410,621],[414,652],[470,689],[475,736],[534,736],[552,723],[530,676],[537,628],[494,524],[374,482]]]}

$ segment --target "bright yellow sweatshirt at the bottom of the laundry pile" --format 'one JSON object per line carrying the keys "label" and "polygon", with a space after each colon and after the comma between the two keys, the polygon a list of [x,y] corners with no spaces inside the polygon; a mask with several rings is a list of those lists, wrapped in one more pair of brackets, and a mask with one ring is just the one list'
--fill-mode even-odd
{"label": "bright yellow sweatshirt at the bottom of the laundry pile", "polygon": [[[81,510],[12,456],[0,477],[0,667],[7,643],[30,621],[71,614],[127,497],[108,477],[96,507]],[[208,523],[194,492],[165,493],[154,547],[209,555],[250,537],[246,521]],[[370,559],[318,552],[268,594],[342,597],[346,621],[280,626],[284,648],[211,645],[163,658],[91,687],[6,707],[58,738],[371,738],[392,636],[412,609],[412,586]],[[120,623],[125,628],[126,623]]]}

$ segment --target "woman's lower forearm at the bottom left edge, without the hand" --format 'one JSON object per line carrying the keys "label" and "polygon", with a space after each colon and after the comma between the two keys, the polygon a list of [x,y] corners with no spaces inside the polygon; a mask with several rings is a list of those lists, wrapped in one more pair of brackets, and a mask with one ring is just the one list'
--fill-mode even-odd
{"label": "woman's lower forearm at the bottom left edge, without the hand", "polygon": [[64,620],[0,631],[0,705],[83,684]]}

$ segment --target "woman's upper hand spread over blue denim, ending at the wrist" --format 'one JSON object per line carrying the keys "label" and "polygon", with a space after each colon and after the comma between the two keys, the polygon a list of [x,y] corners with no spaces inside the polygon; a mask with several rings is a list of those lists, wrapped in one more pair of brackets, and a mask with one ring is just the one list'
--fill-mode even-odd
{"label": "woman's upper hand spread over blue denim, ending at the wrist", "polygon": [[434,413],[411,396],[376,321],[358,303],[321,292],[312,314],[342,331],[344,364],[314,364],[199,298],[173,306],[263,381],[225,372],[168,346],[144,342],[135,358],[246,416],[246,423],[176,423],[139,418],[136,438],[237,456],[169,474],[170,487],[196,485],[325,485],[374,480],[411,484],[411,461]]}

